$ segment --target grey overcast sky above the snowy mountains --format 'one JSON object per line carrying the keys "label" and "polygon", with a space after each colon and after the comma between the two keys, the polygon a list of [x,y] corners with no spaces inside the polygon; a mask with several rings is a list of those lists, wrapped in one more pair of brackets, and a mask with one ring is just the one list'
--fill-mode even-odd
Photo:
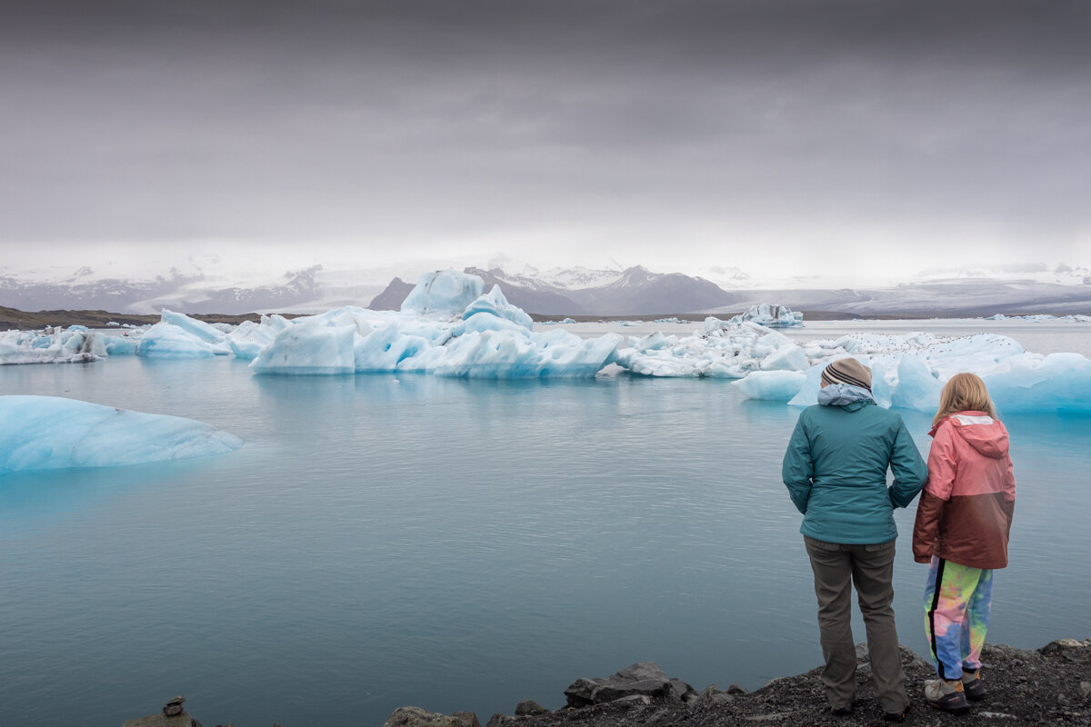
{"label": "grey overcast sky above the snowy mountains", "polygon": [[0,266],[1091,264],[1091,2],[8,2],[0,99]]}

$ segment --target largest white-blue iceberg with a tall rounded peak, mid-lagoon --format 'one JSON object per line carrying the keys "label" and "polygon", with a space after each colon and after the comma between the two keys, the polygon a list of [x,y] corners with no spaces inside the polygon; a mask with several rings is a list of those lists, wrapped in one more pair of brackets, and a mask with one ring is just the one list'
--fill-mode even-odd
{"label": "largest white-blue iceberg with a tall rounded peak, mid-lagoon", "polygon": [[[292,320],[269,316],[221,337],[255,374],[590,377],[614,361],[621,336],[535,332],[499,287],[483,287],[477,276],[442,270],[422,276],[399,312],[348,306]],[[203,332],[203,344],[219,346]]]}

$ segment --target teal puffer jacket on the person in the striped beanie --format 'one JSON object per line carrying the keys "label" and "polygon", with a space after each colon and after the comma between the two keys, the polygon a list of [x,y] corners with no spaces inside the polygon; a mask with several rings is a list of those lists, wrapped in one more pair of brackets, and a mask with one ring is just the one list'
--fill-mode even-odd
{"label": "teal puffer jacket on the person in the striped beanie", "polygon": [[824,389],[819,402],[834,403],[804,409],[784,452],[781,474],[803,513],[800,532],[827,543],[895,540],[894,508],[912,502],[928,476],[901,416],[876,407],[865,389],[858,391],[862,396],[831,397]]}

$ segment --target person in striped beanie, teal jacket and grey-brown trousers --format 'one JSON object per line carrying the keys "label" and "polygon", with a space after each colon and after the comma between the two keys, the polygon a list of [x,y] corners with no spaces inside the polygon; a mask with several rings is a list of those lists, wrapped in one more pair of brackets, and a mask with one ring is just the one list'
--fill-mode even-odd
{"label": "person in striped beanie, teal jacket and grey-brown trousers", "polygon": [[[822,374],[818,403],[800,413],[781,474],[803,513],[814,572],[822,679],[835,714],[850,714],[856,691],[852,586],[867,629],[875,693],[884,717],[909,710],[894,615],[894,508],[913,501],[928,470],[901,416],[872,396],[872,372],[839,359]],[[887,470],[894,484],[887,486]]]}

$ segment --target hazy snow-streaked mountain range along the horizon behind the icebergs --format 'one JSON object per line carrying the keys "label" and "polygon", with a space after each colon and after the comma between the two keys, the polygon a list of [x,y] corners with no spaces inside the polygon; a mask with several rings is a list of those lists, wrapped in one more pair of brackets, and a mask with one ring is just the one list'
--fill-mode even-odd
{"label": "hazy snow-streaked mountain range along the horizon behind the icebergs", "polygon": [[[650,316],[729,314],[768,302],[798,311],[851,316],[978,316],[1005,313],[1091,314],[1091,270],[1068,265],[1008,270],[933,270],[910,282],[828,289],[790,284],[758,287],[736,268],[710,268],[717,281],[679,272],[571,267],[466,268],[485,290],[500,286],[508,301],[547,316]],[[22,311],[103,310],[154,314],[169,307],[193,314],[316,313],[340,305],[397,310],[413,288],[377,270],[325,270],[315,265],[260,282],[224,275],[207,265],[165,275],[123,277],[80,268],[70,274],[0,270],[0,306]],[[388,276],[389,274],[387,274]],[[388,283],[382,282],[388,280]],[[377,294],[376,294],[377,293]]]}

